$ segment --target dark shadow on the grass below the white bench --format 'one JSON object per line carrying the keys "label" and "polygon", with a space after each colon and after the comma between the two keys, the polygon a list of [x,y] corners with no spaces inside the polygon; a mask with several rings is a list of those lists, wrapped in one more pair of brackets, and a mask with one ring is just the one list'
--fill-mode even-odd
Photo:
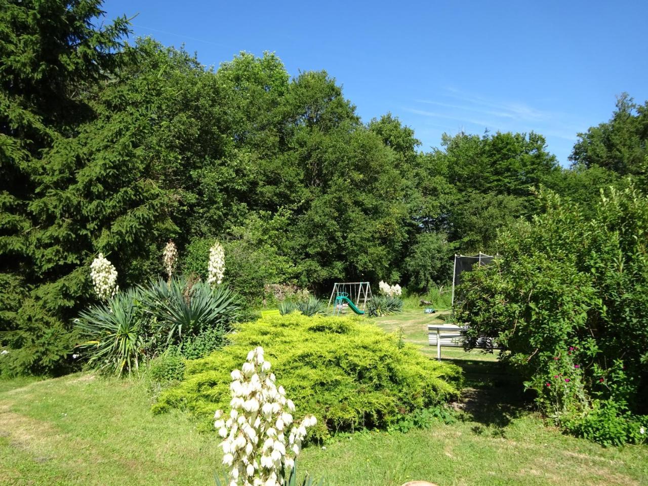
{"label": "dark shadow on the grass below the white bench", "polygon": [[476,422],[472,432],[505,437],[513,419],[528,413],[532,397],[524,393],[522,379],[501,362],[454,359],[444,360],[463,369],[465,388],[461,400],[453,404],[462,419]]}

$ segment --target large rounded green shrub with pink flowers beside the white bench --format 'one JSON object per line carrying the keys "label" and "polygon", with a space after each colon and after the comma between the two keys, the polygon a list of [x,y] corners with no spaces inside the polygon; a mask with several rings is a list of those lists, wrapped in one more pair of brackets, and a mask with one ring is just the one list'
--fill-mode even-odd
{"label": "large rounded green shrub with pink flowers beside the white bench", "polygon": [[500,237],[500,258],[465,275],[457,321],[469,345],[505,346],[559,426],[636,441],[623,431],[648,413],[648,199],[610,189],[587,211],[541,200],[544,214]]}

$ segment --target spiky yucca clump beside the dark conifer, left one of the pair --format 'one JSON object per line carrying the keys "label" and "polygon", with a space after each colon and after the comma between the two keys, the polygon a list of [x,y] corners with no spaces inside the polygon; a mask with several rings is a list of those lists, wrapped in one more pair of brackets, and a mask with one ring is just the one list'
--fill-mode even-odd
{"label": "spiky yucca clump beside the dark conifer, left one of the pair", "polygon": [[81,312],[76,329],[86,341],[77,348],[89,365],[116,375],[137,371],[145,330],[140,301],[139,291],[130,289]]}

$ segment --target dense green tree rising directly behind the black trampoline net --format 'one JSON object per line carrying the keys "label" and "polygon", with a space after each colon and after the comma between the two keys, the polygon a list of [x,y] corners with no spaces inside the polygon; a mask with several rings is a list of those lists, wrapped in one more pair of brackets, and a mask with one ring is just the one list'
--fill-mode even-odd
{"label": "dense green tree rising directly behind the black trampoline net", "polygon": [[535,213],[532,188],[560,172],[544,137],[533,132],[443,135],[441,145],[431,156],[452,189],[435,227],[465,254],[496,252],[498,231]]}

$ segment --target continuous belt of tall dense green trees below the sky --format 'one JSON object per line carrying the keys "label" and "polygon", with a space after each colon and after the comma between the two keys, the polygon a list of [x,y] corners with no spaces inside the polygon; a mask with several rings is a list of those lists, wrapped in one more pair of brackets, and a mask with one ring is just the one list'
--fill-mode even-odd
{"label": "continuous belt of tall dense green trees below the sky", "polygon": [[0,345],[17,369],[65,362],[99,251],[122,288],[159,273],[172,237],[197,274],[222,241],[226,279],[253,303],[268,283],[425,290],[454,251],[498,251],[499,231],[541,212],[533,187],[587,205],[623,185],[592,147],[645,177],[645,108],[628,100],[570,169],[533,132],[444,135],[423,153],[390,113],[364,124],[325,71],[291,78],[268,52],[209,69],[150,38],[122,45],[128,21],[97,27],[99,0],[5,4]]}

